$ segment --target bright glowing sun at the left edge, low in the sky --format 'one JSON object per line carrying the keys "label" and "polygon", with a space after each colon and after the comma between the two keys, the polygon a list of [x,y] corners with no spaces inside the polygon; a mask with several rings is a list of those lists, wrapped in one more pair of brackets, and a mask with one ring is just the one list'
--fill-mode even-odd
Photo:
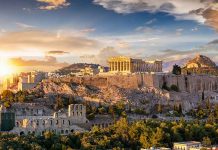
{"label": "bright glowing sun at the left edge, low in the sky", "polygon": [[0,58],[0,77],[5,77],[13,72],[13,66],[8,62],[8,60]]}

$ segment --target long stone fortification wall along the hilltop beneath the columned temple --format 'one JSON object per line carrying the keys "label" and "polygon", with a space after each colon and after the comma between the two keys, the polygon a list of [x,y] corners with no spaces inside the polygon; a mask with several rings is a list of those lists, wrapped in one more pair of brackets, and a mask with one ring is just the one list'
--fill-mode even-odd
{"label": "long stone fortification wall along the hilltop beneath the columned temple", "polygon": [[99,88],[117,86],[120,88],[137,89],[140,87],[162,88],[176,85],[181,92],[218,91],[218,77],[209,75],[173,75],[137,73],[131,75],[86,76],[50,79],[55,82],[74,82]]}

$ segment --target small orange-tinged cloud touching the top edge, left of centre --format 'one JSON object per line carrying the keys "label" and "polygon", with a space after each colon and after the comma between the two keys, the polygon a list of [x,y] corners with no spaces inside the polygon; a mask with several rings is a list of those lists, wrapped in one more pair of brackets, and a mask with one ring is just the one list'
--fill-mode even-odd
{"label": "small orange-tinged cloud touching the top edge, left of centre", "polygon": [[70,5],[68,0],[37,0],[37,1],[45,4],[39,7],[39,9],[42,10],[55,10]]}

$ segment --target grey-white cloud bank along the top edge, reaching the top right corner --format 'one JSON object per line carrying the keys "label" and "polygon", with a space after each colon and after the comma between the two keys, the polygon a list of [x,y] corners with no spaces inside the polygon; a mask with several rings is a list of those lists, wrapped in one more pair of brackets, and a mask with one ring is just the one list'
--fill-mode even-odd
{"label": "grey-white cloud bank along the top edge, reaching the top right corner", "polygon": [[120,14],[165,12],[178,20],[195,20],[218,29],[217,0],[94,0],[93,2]]}

